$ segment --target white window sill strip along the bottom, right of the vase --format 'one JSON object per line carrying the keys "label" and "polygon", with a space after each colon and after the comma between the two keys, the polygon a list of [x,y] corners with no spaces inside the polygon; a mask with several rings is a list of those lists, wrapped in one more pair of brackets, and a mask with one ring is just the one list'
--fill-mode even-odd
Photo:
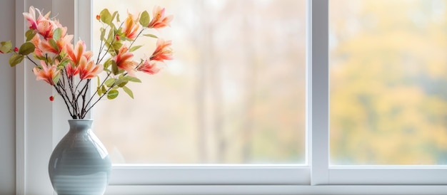
{"label": "white window sill strip along the bottom, right of the vase", "polygon": [[332,186],[296,186],[296,185],[111,185],[106,195],[185,195],[185,194],[446,194],[447,185],[332,185]]}

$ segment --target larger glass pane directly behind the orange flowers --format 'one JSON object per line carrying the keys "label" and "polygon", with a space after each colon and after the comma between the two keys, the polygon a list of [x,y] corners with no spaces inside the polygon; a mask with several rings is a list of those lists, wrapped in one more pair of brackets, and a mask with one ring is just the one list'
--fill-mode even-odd
{"label": "larger glass pane directly behind the orange flowers", "polygon": [[[94,110],[114,163],[306,163],[306,1],[93,1],[174,14],[174,60]],[[99,47],[94,19],[94,48]],[[148,40],[148,39],[141,39]],[[136,45],[148,46],[154,40]],[[96,51],[95,51],[96,52]],[[136,55],[137,56],[137,55]],[[140,56],[142,58],[142,56]],[[138,59],[138,58],[136,58]]]}

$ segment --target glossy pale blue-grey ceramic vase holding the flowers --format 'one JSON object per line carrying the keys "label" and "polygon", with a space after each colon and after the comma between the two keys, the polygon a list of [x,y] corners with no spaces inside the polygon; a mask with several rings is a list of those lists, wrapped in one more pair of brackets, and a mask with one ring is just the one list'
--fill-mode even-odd
{"label": "glossy pale blue-grey ceramic vase holding the flowers", "polygon": [[69,120],[70,130],[53,150],[49,161],[51,184],[58,195],[104,194],[111,161],[91,130],[93,120]]}

